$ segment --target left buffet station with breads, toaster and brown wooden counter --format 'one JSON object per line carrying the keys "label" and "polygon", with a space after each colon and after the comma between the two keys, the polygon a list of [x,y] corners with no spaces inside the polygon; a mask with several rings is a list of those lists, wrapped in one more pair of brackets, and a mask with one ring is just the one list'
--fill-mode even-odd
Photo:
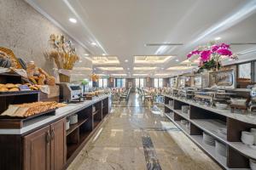
{"label": "left buffet station with breads, toaster and brown wooden counter", "polygon": [[[51,36],[60,46],[55,39]],[[77,56],[64,51],[58,48],[49,55],[57,57],[58,67],[71,69]],[[60,78],[57,83],[34,61],[0,48],[0,169],[65,169],[108,117],[108,90],[86,94],[81,84]]]}

